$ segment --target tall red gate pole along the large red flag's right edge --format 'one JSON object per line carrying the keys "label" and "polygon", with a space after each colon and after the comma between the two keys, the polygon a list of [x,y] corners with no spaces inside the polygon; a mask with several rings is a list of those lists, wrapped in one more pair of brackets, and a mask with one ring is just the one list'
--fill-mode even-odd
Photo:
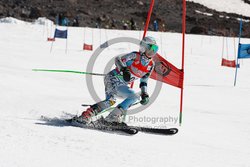
{"label": "tall red gate pole along the large red flag's right edge", "polygon": [[[186,32],[186,0],[182,1],[182,65],[183,82],[184,82],[184,55],[185,55],[185,32]],[[181,100],[180,100],[180,117],[179,125],[182,123],[182,107],[183,107],[183,85],[181,88]]]}

